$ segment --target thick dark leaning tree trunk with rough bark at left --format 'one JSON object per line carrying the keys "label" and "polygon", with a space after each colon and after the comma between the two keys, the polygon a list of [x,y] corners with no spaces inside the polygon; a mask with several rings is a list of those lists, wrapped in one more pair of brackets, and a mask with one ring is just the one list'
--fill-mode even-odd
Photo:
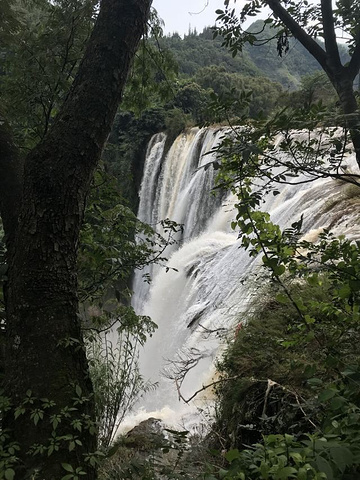
{"label": "thick dark leaning tree trunk with rough bark at left", "polygon": [[[7,222],[4,384],[11,408],[4,426],[9,444],[20,447],[19,479],[39,471],[36,478],[60,480],[76,469],[96,477],[94,397],[78,318],[76,250],[89,184],[150,4],[102,0],[71,92],[25,161],[22,194],[15,200],[19,214],[14,209]],[[1,154],[0,145],[0,176],[10,165]],[[7,199],[11,191],[0,196]],[[4,216],[8,203],[0,202]]]}

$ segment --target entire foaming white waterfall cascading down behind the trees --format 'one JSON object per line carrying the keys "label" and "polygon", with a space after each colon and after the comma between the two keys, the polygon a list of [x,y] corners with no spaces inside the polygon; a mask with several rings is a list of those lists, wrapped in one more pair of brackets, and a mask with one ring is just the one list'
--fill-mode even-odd
{"label": "entire foaming white waterfall cascading down behind the trees", "polygon": [[[261,267],[258,259],[239,248],[238,235],[230,229],[234,199],[212,195],[213,168],[199,168],[214,159],[212,154],[205,154],[223,135],[219,128],[192,129],[176,139],[165,157],[164,135],[155,136],[149,145],[139,218],[155,224],[168,217],[184,224],[184,234],[178,249],[172,247],[170,252],[168,265],[176,270],[153,271],[149,295],[140,288],[141,277],[135,280],[138,313],[150,315],[158,325],[140,352],[140,367],[144,377],[159,382],[159,387],[142,400],[141,412],[135,414],[138,420],[165,416],[167,423],[176,424],[182,416],[187,425],[184,415],[193,414],[194,404],[201,404],[201,395],[189,406],[179,400],[179,389],[189,398],[211,381],[219,347],[216,332],[241,321],[250,292],[254,293],[251,279]],[[332,226],[335,233],[359,237],[353,211],[330,211],[330,206],[340,205],[343,189],[343,184],[328,179],[285,185],[279,195],[264,199],[262,210],[282,228],[303,215],[304,232]],[[184,367],[186,362],[194,368],[181,388],[164,378],[164,370],[169,377],[174,365]]]}

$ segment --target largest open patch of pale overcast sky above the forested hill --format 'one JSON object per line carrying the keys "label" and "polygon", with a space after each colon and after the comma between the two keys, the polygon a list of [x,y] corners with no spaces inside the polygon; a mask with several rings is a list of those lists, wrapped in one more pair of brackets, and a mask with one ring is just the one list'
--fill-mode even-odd
{"label": "largest open patch of pale overcast sky above the forested hill", "polygon": [[[238,2],[239,3],[239,2]],[[153,7],[165,22],[165,33],[187,33],[189,25],[202,31],[215,23],[215,10],[224,7],[223,0],[153,0]]]}

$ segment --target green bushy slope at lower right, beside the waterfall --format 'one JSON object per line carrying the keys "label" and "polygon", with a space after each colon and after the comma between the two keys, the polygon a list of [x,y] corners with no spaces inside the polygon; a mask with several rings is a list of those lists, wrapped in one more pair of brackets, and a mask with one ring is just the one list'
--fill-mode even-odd
{"label": "green bushy slope at lower right, beside the waterfall", "polygon": [[360,242],[324,231],[313,244],[301,221],[281,232],[258,213],[240,214],[255,234],[245,248],[262,253],[275,284],[219,364],[218,430],[241,450],[216,478],[355,478]]}

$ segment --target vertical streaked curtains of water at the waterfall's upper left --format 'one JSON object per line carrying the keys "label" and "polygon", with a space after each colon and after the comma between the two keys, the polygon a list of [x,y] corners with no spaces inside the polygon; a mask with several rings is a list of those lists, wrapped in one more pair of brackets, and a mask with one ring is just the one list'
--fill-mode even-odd
{"label": "vertical streaked curtains of water at the waterfall's upper left", "polygon": [[[159,222],[169,218],[183,225],[183,233],[176,235],[177,244],[169,245],[167,256],[184,242],[204,231],[221,197],[209,195],[214,187],[214,172],[205,165],[214,160],[211,149],[219,144],[223,130],[193,128],[180,135],[169,152],[164,155],[166,137],[155,135],[147,149],[144,174],[140,188],[138,218],[163,234]],[[156,266],[135,274],[133,305],[142,311],[147,299],[148,285],[143,282],[144,273],[154,277]]]}

